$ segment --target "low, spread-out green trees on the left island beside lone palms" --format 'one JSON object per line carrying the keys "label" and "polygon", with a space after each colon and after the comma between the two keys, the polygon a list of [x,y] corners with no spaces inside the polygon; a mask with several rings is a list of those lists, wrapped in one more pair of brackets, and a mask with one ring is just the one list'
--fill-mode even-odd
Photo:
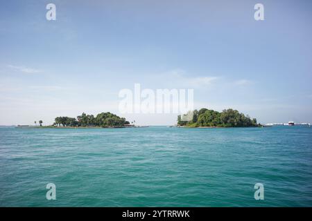
{"label": "low, spread-out green trees on the left island beside lone palms", "polygon": [[99,113],[94,115],[87,115],[83,113],[74,117],[55,117],[54,126],[101,126],[101,127],[120,127],[124,124],[130,124],[123,117],[114,115],[113,113]]}

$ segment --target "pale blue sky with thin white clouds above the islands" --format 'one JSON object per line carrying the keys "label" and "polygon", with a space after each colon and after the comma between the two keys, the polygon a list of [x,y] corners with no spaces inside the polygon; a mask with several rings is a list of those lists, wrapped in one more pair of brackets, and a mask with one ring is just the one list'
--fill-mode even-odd
{"label": "pale blue sky with thin white clouds above the islands", "polygon": [[191,88],[194,108],[234,108],[261,123],[312,122],[312,1],[0,4],[0,125],[107,111],[175,124],[175,113],[120,113],[119,92],[135,84]]}

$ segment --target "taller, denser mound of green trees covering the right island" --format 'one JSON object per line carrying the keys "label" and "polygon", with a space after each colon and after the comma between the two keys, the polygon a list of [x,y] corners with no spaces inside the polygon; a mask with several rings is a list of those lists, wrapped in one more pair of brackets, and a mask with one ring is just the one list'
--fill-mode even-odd
{"label": "taller, denser mound of green trees covering the right island", "polygon": [[[186,116],[186,115],[184,115]],[[202,108],[200,111],[193,111],[193,119],[183,121],[184,117],[177,116],[179,126],[219,126],[219,127],[249,127],[259,126],[257,119],[250,119],[248,115],[239,113],[233,109],[223,110],[222,112]]]}

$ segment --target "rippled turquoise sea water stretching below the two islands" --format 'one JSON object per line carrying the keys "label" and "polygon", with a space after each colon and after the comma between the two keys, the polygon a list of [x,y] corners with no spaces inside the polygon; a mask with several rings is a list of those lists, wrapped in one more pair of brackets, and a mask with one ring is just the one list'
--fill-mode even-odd
{"label": "rippled turquoise sea water stretching below the two islands", "polygon": [[312,206],[312,128],[0,128],[0,206]]}

